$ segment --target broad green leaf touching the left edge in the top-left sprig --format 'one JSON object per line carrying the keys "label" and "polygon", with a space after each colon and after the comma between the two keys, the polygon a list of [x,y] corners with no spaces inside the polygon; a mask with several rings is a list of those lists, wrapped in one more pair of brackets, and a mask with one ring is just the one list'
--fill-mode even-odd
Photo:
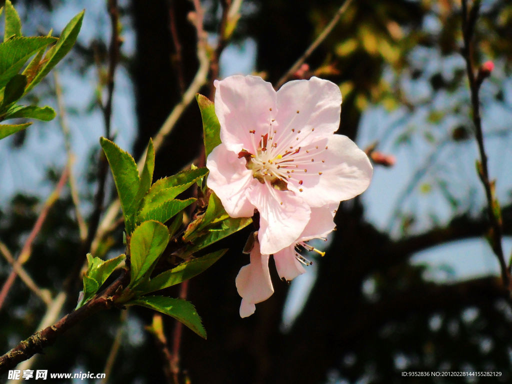
{"label": "broad green leaf touching the left edge in the top-left sprig", "polygon": [[30,56],[55,40],[55,37],[13,37],[0,43],[0,88],[22,69]]}

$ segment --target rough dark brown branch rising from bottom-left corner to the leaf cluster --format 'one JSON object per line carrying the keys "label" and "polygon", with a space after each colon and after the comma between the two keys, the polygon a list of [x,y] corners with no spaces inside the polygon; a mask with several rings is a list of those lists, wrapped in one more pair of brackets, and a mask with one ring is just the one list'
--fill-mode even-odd
{"label": "rough dark brown branch rising from bottom-left corner to the leaf cluster", "polygon": [[54,325],[34,333],[1,356],[0,374],[14,368],[19,362],[29,359],[36,353],[42,352],[44,348],[52,345],[59,335],[90,315],[103,309],[112,308],[119,291],[126,285],[127,278],[129,278],[129,274],[123,269],[119,277],[108,288],[87,302],[83,307],[62,317]]}

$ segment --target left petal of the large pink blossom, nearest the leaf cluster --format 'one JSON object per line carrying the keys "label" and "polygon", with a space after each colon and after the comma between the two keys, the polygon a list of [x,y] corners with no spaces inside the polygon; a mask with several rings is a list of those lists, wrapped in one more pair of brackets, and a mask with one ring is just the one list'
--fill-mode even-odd
{"label": "left petal of the large pink blossom, nearest the leaf cluster", "polygon": [[251,171],[245,167],[245,159],[239,159],[236,153],[228,151],[221,143],[208,156],[206,167],[210,170],[208,188],[221,199],[228,215],[251,217],[254,205],[249,202],[246,193],[254,179]]}

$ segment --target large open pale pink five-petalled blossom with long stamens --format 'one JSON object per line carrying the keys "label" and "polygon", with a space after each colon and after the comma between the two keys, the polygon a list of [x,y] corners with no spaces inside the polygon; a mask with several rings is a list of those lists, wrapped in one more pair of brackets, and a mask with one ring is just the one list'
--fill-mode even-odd
{"label": "large open pale pink five-petalled blossom with long stamens", "polygon": [[370,184],[368,156],[334,135],[342,102],[336,84],[312,77],[275,92],[260,77],[230,76],[215,86],[222,143],[208,156],[207,185],[231,217],[258,209],[262,254],[293,247],[315,221],[313,208],[351,199]]}

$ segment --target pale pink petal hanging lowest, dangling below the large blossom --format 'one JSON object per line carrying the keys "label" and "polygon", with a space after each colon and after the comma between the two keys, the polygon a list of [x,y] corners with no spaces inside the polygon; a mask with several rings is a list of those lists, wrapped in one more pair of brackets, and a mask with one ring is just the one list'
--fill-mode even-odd
{"label": "pale pink petal hanging lowest, dangling below the large blossom", "polygon": [[250,264],[243,266],[235,281],[238,294],[242,297],[240,317],[254,313],[254,304],[267,300],[274,288],[268,270],[268,254],[261,254],[259,244],[254,244],[250,253]]}

